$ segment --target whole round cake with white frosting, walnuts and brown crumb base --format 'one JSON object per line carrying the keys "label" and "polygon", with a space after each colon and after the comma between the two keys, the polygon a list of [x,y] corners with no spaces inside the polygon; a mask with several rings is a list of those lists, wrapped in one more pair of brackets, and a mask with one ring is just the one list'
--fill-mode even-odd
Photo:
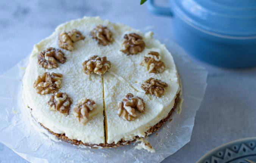
{"label": "whole round cake with white frosting, walnuts and brown crumb base", "polygon": [[50,134],[76,145],[116,147],[167,121],[179,83],[172,55],[152,32],[84,17],[34,45],[23,95]]}

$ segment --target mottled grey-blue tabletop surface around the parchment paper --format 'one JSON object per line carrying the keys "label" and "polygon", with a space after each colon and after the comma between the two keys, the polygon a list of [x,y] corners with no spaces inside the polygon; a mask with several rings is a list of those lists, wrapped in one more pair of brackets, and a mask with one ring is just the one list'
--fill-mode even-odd
{"label": "mottled grey-blue tabletop surface around the parchment paper", "polygon": [[[1,0],[0,74],[25,58],[57,25],[83,16],[101,16],[138,29],[151,26],[158,36],[171,37],[170,18],[151,15],[139,0]],[[206,94],[195,117],[191,141],[164,163],[193,163],[220,144],[256,135],[256,68],[229,70],[195,62],[209,71]],[[0,144],[1,162],[27,161]]]}

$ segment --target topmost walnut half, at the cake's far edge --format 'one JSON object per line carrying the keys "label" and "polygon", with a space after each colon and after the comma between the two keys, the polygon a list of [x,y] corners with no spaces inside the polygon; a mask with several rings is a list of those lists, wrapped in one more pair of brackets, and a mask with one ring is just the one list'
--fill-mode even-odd
{"label": "topmost walnut half, at the cake's far edge", "polygon": [[109,42],[114,40],[111,31],[106,26],[98,25],[91,31],[91,34],[92,38],[103,46],[108,45]]}

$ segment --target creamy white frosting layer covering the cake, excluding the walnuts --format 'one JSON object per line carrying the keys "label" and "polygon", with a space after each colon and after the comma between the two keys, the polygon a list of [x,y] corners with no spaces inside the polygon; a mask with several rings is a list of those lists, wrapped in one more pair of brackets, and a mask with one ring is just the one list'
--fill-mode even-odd
{"label": "creamy white frosting layer covering the cake, excluding the walnuts", "polygon": [[[114,42],[107,46],[98,45],[92,39],[90,31],[97,25],[107,26],[112,32]],[[48,47],[59,48],[58,35],[63,31],[78,29],[86,38],[74,43],[74,50],[61,49],[67,61],[58,63],[58,68],[45,69],[38,65],[37,54]],[[120,52],[124,34],[138,33],[146,44],[144,51],[136,55],[127,56]],[[158,40],[153,39],[153,33],[142,34],[126,25],[114,24],[99,17],[84,17],[59,25],[55,32],[34,46],[30,62],[23,79],[25,100],[32,115],[37,121],[53,132],[65,133],[70,139],[81,140],[83,143],[105,143],[105,128],[103,114],[103,82],[99,75],[84,74],[82,63],[92,55],[106,56],[111,62],[111,68],[103,75],[106,134],[107,143],[118,142],[120,139],[131,140],[135,136],[144,137],[145,132],[160,120],[165,118],[173,108],[176,94],[180,90],[178,75],[173,58],[169,51]],[[59,48],[60,49],[60,48]],[[165,64],[165,71],[159,74],[148,73],[145,67],[140,66],[145,54],[149,51],[158,51]],[[44,72],[61,73],[62,86],[59,92],[66,92],[73,100],[69,115],[65,116],[49,109],[47,102],[52,94],[39,95],[33,88],[38,75]],[[140,88],[142,82],[153,77],[166,82],[169,86],[161,98],[145,95]],[[144,99],[145,112],[139,113],[134,121],[125,121],[117,115],[117,104],[127,93],[133,93]],[[97,108],[89,113],[86,125],[79,123],[73,115],[73,108],[81,98],[93,99]]]}

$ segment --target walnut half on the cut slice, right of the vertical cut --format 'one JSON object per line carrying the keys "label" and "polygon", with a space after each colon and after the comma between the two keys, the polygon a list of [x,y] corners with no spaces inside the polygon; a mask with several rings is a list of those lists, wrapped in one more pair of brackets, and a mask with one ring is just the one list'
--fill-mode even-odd
{"label": "walnut half on the cut slice, right of the vertical cut", "polygon": [[136,110],[140,113],[145,111],[145,103],[140,97],[134,97],[133,94],[128,93],[126,98],[118,104],[117,114],[124,120],[132,121],[137,118]]}

